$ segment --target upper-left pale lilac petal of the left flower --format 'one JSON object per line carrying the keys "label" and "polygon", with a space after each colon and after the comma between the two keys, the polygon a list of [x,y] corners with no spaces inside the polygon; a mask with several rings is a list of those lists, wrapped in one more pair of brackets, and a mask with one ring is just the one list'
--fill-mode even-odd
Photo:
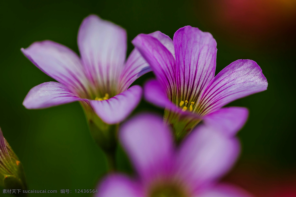
{"label": "upper-left pale lilac petal of the left flower", "polygon": [[48,76],[67,86],[72,92],[86,92],[86,76],[77,54],[50,40],[35,42],[22,53]]}

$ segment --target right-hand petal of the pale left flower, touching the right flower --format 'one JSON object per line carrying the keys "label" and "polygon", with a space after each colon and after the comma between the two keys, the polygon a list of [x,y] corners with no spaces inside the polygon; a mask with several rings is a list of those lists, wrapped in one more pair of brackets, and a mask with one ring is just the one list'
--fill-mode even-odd
{"label": "right-hand petal of the pale left flower, touching the right flower", "polygon": [[136,79],[143,74],[150,72],[151,68],[141,53],[134,49],[128,56],[126,65],[120,74],[118,92],[126,90]]}

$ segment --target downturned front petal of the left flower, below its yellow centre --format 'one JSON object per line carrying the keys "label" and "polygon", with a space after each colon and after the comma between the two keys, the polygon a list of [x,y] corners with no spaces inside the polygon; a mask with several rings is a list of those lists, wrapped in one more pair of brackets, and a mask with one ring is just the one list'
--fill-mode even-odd
{"label": "downturned front petal of the left flower, below its yellow centre", "polygon": [[108,124],[123,121],[139,104],[142,88],[134,85],[126,91],[108,100],[91,100],[91,106],[96,114]]}

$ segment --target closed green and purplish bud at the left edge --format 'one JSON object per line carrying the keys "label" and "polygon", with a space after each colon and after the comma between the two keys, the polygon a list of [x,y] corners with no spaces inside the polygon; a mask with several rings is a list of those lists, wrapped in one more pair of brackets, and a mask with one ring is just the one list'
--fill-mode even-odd
{"label": "closed green and purplish bud at the left edge", "polygon": [[27,188],[22,163],[9,146],[0,128],[0,186],[5,189]]}

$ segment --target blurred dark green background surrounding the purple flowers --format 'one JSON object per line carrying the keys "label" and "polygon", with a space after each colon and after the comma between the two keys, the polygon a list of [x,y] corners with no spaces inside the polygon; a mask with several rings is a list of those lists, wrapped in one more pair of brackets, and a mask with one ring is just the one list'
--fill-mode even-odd
{"label": "blurred dark green background surrounding the purple flowers", "polygon": [[[270,180],[296,180],[295,1],[239,2],[1,1],[0,126],[25,168],[29,189],[58,191],[44,196],[89,196],[74,190],[95,188],[106,173],[104,155],[78,102],[44,110],[22,106],[30,88],[54,79],[28,61],[20,48],[49,39],[78,53],[78,27],[89,14],[124,27],[128,53],[139,33],[160,30],[172,38],[178,28],[191,25],[216,39],[216,74],[237,59],[256,61],[268,90],[229,104],[249,108],[250,117],[238,134],[241,158],[225,179],[258,196],[269,190]],[[152,73],[135,84],[150,77]],[[134,113],[142,110],[163,112],[145,101]],[[131,171],[122,151],[118,162],[121,170]],[[72,194],[60,194],[61,189]]]}

